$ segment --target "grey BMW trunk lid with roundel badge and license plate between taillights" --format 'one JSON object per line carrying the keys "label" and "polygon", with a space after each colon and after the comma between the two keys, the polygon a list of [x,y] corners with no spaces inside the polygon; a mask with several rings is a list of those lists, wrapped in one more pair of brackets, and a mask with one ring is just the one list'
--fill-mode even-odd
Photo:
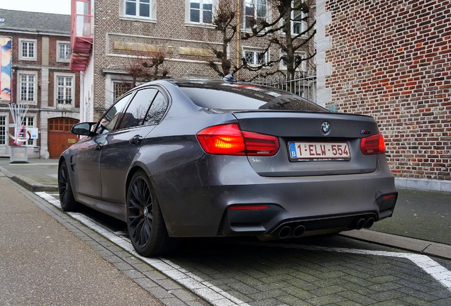
{"label": "grey BMW trunk lid with roundel badge and license plate between taillights", "polygon": [[235,112],[240,129],[279,138],[272,157],[248,157],[261,176],[321,176],[374,171],[377,155],[362,154],[362,137],[377,135],[366,115],[295,111]]}

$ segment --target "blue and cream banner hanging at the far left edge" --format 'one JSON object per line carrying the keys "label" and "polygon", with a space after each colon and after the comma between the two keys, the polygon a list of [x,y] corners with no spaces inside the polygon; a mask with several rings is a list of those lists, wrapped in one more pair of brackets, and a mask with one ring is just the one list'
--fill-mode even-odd
{"label": "blue and cream banner hanging at the far left edge", "polygon": [[11,40],[0,36],[0,101],[11,102]]}

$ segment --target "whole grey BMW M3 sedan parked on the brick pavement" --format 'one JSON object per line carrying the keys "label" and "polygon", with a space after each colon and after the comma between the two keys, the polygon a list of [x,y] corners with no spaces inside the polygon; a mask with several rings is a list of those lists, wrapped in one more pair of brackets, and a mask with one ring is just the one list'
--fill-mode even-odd
{"label": "whole grey BMW M3 sedan parked on the brick pavement", "polygon": [[373,118],[266,86],[152,81],[72,132],[83,137],[60,157],[62,209],[123,220],[143,256],[176,237],[371,227],[391,217],[398,194]]}

